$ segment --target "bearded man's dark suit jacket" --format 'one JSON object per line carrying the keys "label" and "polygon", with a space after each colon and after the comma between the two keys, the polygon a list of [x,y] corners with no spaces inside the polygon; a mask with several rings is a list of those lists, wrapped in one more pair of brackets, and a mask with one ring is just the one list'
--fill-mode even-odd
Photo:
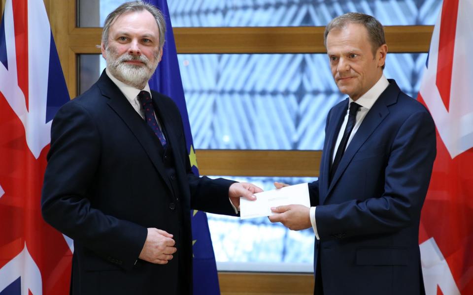
{"label": "bearded man's dark suit jacket", "polygon": [[[233,182],[192,174],[177,107],[152,96],[175,175],[165,169],[157,137],[105,72],[53,120],[41,205],[44,219],[74,239],[71,294],[168,295],[178,284],[190,294],[191,207],[235,215]],[[167,265],[137,260],[153,227],[174,235],[177,252]]]}

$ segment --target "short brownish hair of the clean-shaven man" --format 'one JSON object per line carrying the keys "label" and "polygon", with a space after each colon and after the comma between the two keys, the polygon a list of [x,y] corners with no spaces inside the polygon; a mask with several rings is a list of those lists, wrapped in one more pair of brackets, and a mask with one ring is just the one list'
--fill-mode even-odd
{"label": "short brownish hair of the clean-shaven man", "polygon": [[368,40],[371,43],[373,56],[376,56],[376,50],[379,48],[379,46],[386,44],[386,39],[384,38],[383,25],[381,25],[381,23],[377,19],[368,14],[349,12],[334,18],[327,25],[327,27],[325,27],[325,48],[327,48],[327,35],[329,34],[329,32],[333,29],[343,29],[349,24],[360,24],[366,28],[366,30],[368,31]]}

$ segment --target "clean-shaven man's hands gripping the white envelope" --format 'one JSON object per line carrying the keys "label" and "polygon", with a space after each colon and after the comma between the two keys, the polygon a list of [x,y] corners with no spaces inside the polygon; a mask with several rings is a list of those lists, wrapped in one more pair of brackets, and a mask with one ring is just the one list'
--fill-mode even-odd
{"label": "clean-shaven man's hands gripping the white envelope", "polygon": [[[276,188],[282,188],[289,186],[286,183],[274,182]],[[293,231],[305,230],[312,227],[310,223],[310,208],[304,205],[287,205],[279,207],[271,207],[271,211],[274,214],[268,216],[271,222],[280,222],[285,227]]]}

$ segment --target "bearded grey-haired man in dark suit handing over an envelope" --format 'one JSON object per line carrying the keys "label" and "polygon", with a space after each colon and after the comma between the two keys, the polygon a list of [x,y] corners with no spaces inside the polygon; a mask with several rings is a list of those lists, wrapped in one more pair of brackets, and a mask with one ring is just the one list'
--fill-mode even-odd
{"label": "bearded grey-haired man in dark suit handing over an envelope", "polygon": [[106,70],[53,120],[41,205],[74,239],[71,294],[191,294],[190,209],[236,215],[261,191],[193,175],[179,111],[148,85],[165,28],[141,1],[113,11]]}

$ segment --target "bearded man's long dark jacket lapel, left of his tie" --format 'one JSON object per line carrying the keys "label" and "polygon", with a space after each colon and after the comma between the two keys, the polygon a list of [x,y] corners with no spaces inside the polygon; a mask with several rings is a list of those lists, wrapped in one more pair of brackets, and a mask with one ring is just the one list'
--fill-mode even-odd
{"label": "bearded man's long dark jacket lapel, left of his tie", "polygon": [[103,71],[99,79],[98,86],[101,89],[102,95],[109,98],[108,105],[125,122],[128,128],[130,128],[158,173],[168,185],[169,190],[172,192],[171,184],[167,177],[163,161],[161,160],[157,150],[157,145],[152,137],[152,133],[146,130],[146,122],[136,113],[120,89],[118,89],[118,87],[105,74],[105,71]]}

